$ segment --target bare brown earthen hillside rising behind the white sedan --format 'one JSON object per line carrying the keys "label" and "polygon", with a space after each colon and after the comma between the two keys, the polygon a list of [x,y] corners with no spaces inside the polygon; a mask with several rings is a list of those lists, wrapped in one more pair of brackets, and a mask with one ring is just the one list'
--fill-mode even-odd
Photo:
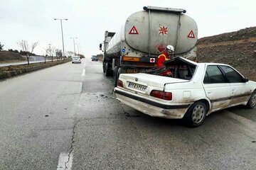
{"label": "bare brown earthen hillside rising behind the white sedan", "polygon": [[256,27],[201,38],[197,47],[199,62],[230,64],[256,81]]}

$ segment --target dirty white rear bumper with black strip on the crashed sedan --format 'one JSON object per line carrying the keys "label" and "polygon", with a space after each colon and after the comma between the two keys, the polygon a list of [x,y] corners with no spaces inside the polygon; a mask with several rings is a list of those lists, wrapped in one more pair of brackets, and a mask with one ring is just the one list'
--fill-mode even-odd
{"label": "dirty white rear bumper with black strip on the crashed sedan", "polygon": [[117,100],[130,106],[142,113],[160,118],[174,118],[181,119],[185,115],[191,103],[182,104],[169,104],[159,103],[157,101],[151,101],[147,98],[132,94],[122,89],[114,89],[114,94],[117,96]]}

